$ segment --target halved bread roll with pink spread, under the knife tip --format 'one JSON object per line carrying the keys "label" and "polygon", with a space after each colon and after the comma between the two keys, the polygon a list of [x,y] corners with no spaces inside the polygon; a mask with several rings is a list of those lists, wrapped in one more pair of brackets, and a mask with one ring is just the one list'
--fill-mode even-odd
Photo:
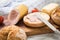
{"label": "halved bread roll with pink spread, under the knife tip", "polygon": [[42,17],[44,17],[46,20],[50,19],[49,15],[46,13],[34,12],[34,13],[30,13],[30,14],[24,16],[24,18],[23,18],[24,23],[30,27],[42,27],[42,26],[44,26],[45,24],[41,20],[39,20],[36,16],[39,14],[41,14]]}

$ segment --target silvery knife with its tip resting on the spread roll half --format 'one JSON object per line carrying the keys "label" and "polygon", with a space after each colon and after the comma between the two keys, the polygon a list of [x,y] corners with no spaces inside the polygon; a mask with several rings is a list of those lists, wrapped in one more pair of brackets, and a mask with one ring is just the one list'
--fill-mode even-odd
{"label": "silvery knife with its tip resting on the spread roll half", "polygon": [[51,30],[53,30],[55,33],[60,34],[60,31],[56,29],[49,21],[44,19],[41,14],[36,15],[39,20],[41,20],[43,23],[45,23]]}

